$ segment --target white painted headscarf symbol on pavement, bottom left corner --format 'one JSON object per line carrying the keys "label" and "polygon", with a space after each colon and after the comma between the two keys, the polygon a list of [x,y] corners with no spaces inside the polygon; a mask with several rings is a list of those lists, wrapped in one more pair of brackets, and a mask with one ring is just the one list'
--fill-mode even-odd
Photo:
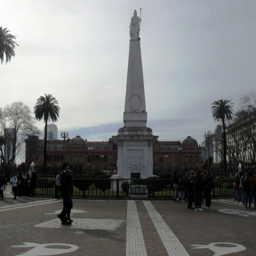
{"label": "white painted headscarf symbol on pavement, bottom left corner", "polygon": [[[33,249],[25,252],[23,254],[19,254],[16,256],[46,256],[46,255],[57,255],[62,253],[74,252],[78,249],[78,246],[74,244],[36,244],[36,243],[23,243],[25,245],[16,245],[12,247],[18,248],[29,248],[34,247]],[[62,249],[54,248],[54,247],[62,247]],[[47,248],[52,247],[52,248]],[[67,249],[63,249],[63,247],[69,247]]]}

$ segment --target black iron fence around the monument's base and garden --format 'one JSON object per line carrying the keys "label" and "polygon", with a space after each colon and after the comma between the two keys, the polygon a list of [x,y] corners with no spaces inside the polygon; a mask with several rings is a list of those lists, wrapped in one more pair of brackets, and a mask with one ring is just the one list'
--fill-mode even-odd
{"label": "black iron fence around the monument's base and garden", "polygon": [[[214,179],[212,198],[234,196],[233,179]],[[172,179],[110,179],[89,178],[73,179],[74,198],[157,198],[172,200],[174,187]],[[54,197],[55,179],[38,178],[36,185],[38,196]]]}

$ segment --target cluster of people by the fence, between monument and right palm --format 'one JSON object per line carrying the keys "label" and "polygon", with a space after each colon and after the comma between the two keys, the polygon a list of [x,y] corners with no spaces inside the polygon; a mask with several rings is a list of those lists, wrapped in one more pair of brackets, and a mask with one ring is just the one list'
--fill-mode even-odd
{"label": "cluster of people by the fence, between monument and right palm", "polygon": [[[209,171],[201,170],[196,172],[179,173],[174,172],[174,201],[186,202],[188,209],[196,211],[209,210],[211,205],[211,193],[214,187],[213,178]],[[205,198],[206,207],[202,208],[202,201]],[[195,208],[192,206],[194,202]]]}

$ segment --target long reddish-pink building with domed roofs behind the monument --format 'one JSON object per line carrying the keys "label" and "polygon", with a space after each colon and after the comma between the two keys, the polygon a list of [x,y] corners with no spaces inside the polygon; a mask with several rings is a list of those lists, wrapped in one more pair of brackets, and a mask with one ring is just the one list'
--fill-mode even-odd
{"label": "long reddish-pink building with domed roofs behind the monument", "polygon": [[[34,143],[31,150],[30,139]],[[28,147],[30,146],[30,147]],[[47,141],[47,166],[60,167],[63,162],[69,162],[74,171],[104,170],[112,173],[117,170],[117,144],[112,138],[108,141],[94,142],[76,136],[67,140]],[[26,159],[31,158],[35,166],[44,164],[44,140],[37,136],[26,139]],[[153,172],[172,172],[174,170],[196,170],[201,168],[202,148],[195,139],[188,136],[181,141],[157,141],[153,147]]]}

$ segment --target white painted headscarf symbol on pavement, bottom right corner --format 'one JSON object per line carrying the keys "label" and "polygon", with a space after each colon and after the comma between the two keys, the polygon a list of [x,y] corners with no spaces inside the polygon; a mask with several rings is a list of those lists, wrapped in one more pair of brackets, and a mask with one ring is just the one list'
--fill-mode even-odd
{"label": "white painted headscarf symbol on pavement, bottom right corner", "polygon": [[[219,244],[220,246],[215,246],[216,244]],[[222,245],[234,245],[231,247],[224,247]],[[208,245],[200,245],[200,244],[190,244],[191,246],[197,246],[194,247],[192,249],[205,249],[208,248],[212,251],[215,252],[215,254],[213,256],[220,256],[220,255],[225,255],[225,254],[230,254],[230,253],[234,253],[234,252],[241,252],[246,250],[246,247],[240,245],[240,244],[233,244],[233,243],[211,243]]]}

